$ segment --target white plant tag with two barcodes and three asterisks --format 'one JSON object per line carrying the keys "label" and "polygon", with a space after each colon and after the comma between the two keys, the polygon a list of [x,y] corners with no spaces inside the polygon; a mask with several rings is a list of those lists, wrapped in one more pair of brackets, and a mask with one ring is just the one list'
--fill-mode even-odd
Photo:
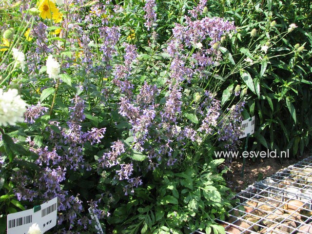
{"label": "white plant tag with two barcodes and three asterisks", "polygon": [[58,198],[35,206],[33,209],[9,214],[7,217],[7,234],[27,234],[34,223],[39,225],[42,233],[57,224]]}

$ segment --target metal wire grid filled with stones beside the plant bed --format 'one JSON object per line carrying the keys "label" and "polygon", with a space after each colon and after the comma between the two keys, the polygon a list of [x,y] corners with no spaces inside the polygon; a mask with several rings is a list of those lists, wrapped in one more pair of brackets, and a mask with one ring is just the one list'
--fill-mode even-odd
{"label": "metal wire grid filled with stones beside the plant bed", "polygon": [[227,234],[312,234],[312,156],[255,182],[234,199],[240,202],[227,221],[216,219]]}

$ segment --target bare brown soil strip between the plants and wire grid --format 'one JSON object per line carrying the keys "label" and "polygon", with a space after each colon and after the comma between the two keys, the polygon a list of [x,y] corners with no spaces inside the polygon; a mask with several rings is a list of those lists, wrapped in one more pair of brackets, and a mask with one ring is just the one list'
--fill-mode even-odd
{"label": "bare brown soil strip between the plants and wire grid", "polygon": [[311,156],[311,154],[307,152],[303,154],[303,156],[290,159],[283,158],[281,161],[278,158],[257,158],[254,161],[251,158],[246,158],[243,176],[243,159],[233,159],[233,161],[228,164],[229,171],[225,175],[227,186],[234,193],[238,193],[254,182],[272,176],[276,172],[281,171],[308,156]]}

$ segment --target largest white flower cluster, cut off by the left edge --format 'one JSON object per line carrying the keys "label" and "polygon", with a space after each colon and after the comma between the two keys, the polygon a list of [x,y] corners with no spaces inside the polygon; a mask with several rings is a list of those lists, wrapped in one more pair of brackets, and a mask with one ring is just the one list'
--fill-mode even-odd
{"label": "largest white flower cluster, cut off by the left edge", "polygon": [[15,125],[23,122],[23,114],[26,111],[26,102],[20,98],[16,89],[3,92],[0,89],[0,126]]}

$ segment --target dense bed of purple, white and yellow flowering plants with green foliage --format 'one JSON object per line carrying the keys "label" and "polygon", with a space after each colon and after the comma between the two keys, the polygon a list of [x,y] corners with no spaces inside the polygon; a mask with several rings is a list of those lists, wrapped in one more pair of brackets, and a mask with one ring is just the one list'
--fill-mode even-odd
{"label": "dense bed of purple, white and yellow flowering plants with green foliage", "polygon": [[1,1],[0,233],[56,196],[48,233],[223,233],[241,120],[311,141],[309,4]]}

